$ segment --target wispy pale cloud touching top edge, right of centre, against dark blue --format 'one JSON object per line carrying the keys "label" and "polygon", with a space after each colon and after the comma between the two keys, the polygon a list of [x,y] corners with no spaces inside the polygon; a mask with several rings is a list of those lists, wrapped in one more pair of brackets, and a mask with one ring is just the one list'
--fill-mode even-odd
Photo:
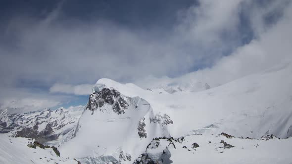
{"label": "wispy pale cloud touching top edge, right of centre, against dark blue", "polygon": [[186,11],[183,23],[178,26],[186,37],[205,46],[218,43],[220,35],[238,29],[240,4],[243,0],[199,0],[199,6]]}

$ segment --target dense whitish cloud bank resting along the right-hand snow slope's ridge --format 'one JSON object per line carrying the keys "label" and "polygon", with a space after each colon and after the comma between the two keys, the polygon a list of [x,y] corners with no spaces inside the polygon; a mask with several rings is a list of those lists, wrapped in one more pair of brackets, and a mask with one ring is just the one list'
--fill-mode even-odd
{"label": "dense whitish cloud bank resting along the right-hand snow slope's ridge", "polygon": [[[211,69],[202,70],[212,82],[224,83],[292,60],[292,6],[283,18],[259,38],[238,47]],[[211,79],[212,78],[212,79]]]}

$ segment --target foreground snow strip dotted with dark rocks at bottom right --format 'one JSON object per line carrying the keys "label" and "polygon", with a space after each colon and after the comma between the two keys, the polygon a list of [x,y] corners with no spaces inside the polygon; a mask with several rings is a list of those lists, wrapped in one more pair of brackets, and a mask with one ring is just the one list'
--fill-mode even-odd
{"label": "foreground snow strip dotted with dark rocks at bottom right", "polygon": [[223,135],[155,138],[135,164],[291,164],[292,138],[264,139]]}

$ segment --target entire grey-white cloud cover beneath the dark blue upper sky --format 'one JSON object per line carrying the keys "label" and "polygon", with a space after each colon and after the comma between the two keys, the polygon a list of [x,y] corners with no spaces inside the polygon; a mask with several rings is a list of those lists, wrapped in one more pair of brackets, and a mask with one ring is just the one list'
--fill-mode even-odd
{"label": "entire grey-white cloud cover beneath the dark blue upper sky", "polygon": [[[50,93],[87,95],[92,87],[88,83],[99,78],[132,82],[201,68],[192,77],[214,86],[261,71],[291,59],[292,7],[287,1],[260,6],[256,0],[199,0],[199,6],[181,12],[181,22],[163,37],[156,35],[159,31],[109,22],[59,22],[60,7],[43,21],[11,19],[6,33],[12,34],[13,48],[0,44],[0,86],[14,90],[1,90],[0,103],[26,110],[68,100],[28,90],[18,95],[16,85],[22,81],[51,86]],[[279,11],[279,21],[267,24],[267,15]],[[255,37],[246,45],[241,45],[242,12]],[[80,83],[85,84],[76,85]]]}

